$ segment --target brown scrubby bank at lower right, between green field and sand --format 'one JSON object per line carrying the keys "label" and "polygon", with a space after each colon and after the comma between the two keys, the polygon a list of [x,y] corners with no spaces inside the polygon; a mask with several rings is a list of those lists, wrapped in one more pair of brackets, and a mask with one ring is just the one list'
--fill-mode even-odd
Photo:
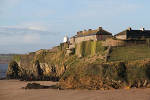
{"label": "brown scrubby bank at lower right, between green field and sand", "polygon": [[65,89],[118,89],[150,86],[150,60],[88,64],[68,69],[60,80]]}

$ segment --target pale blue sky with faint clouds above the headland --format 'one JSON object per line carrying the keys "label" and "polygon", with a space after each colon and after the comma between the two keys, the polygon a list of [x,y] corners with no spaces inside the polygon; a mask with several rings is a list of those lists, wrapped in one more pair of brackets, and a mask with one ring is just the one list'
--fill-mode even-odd
{"label": "pale blue sky with faint clouds above the headland", "polygon": [[49,49],[66,35],[99,26],[113,34],[129,26],[150,29],[149,4],[150,0],[0,0],[0,53]]}

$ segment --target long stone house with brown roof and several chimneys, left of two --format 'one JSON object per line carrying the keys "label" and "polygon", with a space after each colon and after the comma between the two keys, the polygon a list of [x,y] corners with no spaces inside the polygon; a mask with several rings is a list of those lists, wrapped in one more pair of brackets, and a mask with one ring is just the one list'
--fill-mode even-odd
{"label": "long stone house with brown roof and several chimneys, left of two", "polygon": [[81,43],[82,41],[98,41],[105,40],[106,38],[112,37],[112,33],[104,30],[102,27],[99,27],[96,30],[84,30],[77,32],[77,35],[70,38],[71,44]]}

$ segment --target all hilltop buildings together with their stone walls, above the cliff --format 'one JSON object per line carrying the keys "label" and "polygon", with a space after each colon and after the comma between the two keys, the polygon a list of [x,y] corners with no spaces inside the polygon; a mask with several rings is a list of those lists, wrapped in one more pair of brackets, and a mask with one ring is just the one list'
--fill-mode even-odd
{"label": "all hilltop buildings together with their stone walls, above the cliff", "polygon": [[132,30],[131,27],[126,30],[112,35],[111,32],[104,30],[102,27],[92,30],[83,30],[77,32],[77,34],[65,42],[68,44],[67,54],[73,52],[75,45],[82,43],[83,41],[101,41],[102,46],[129,46],[138,44],[148,44],[150,43],[150,30],[145,30],[141,28],[140,30]]}

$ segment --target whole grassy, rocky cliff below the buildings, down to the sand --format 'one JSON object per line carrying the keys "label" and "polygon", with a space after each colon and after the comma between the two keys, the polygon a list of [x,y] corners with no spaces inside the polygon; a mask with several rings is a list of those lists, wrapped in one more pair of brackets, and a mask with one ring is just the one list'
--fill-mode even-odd
{"label": "whole grassy, rocky cliff below the buildings, down to the sand", "polygon": [[[144,46],[146,50],[142,53],[141,46],[111,48],[103,47],[101,41],[86,41],[76,44],[69,56],[66,55],[66,48],[68,44],[65,43],[50,50],[14,56],[7,77],[59,81],[58,85],[63,89],[105,90],[150,86],[150,57],[144,55],[149,53],[147,46]],[[124,48],[131,52],[127,53]],[[114,56],[115,52],[119,58]],[[124,55],[121,55],[123,52]],[[138,59],[137,52],[144,60]],[[135,58],[124,57],[131,55]]]}

